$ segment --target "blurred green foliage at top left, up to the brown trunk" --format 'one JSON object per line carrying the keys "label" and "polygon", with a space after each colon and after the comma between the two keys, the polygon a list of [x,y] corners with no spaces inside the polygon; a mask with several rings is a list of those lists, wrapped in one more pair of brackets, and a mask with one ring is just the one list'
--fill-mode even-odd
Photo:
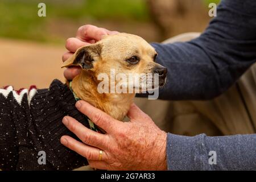
{"label": "blurred green foliage at top left, up to the brown trunk", "polygon": [[[205,5],[210,2],[220,2],[220,0],[202,1]],[[71,26],[76,26],[88,19],[91,20],[90,22],[112,20],[117,27],[118,22],[126,21],[131,26],[133,21],[152,23],[146,0],[44,0],[46,17],[38,16],[40,2],[42,1],[0,0],[0,36],[60,43],[63,42],[63,36],[51,34],[52,29],[56,28],[52,25],[59,26],[57,24],[59,21],[72,22]]]}

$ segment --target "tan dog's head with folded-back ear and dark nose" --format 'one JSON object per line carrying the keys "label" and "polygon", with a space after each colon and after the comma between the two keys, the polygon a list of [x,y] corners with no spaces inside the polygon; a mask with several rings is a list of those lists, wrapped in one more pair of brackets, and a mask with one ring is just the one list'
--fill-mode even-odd
{"label": "tan dog's head with folded-back ear and dark nose", "polygon": [[[64,62],[63,67],[79,65],[84,71],[90,72],[97,78],[100,74],[105,73],[109,77],[119,73],[126,76],[125,80],[122,76],[118,82],[129,86],[134,84],[130,81],[130,77],[139,75],[138,82],[134,88],[139,87],[141,92],[142,84],[147,82],[152,89],[163,86],[166,82],[167,69],[160,64],[155,63],[157,53],[144,39],[139,36],[119,33],[116,35],[105,36],[100,42],[77,49],[75,54]],[[155,74],[159,75],[158,85],[155,85],[155,79],[148,81],[148,78],[141,75]],[[136,77],[137,78],[137,77]],[[148,87],[147,87],[148,88]]]}

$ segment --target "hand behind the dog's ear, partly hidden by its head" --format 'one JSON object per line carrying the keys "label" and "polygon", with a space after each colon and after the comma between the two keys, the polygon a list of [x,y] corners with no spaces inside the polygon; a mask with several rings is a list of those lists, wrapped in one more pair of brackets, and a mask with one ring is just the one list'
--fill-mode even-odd
{"label": "hand behind the dog's ear, partly hidden by its head", "polygon": [[[101,40],[104,35],[113,35],[117,34],[117,31],[109,31],[105,28],[99,28],[96,26],[92,26],[90,24],[86,24],[81,26],[77,30],[77,34],[75,38],[67,39],[65,47],[68,49],[68,52],[65,52],[62,56],[63,62],[67,60],[70,56],[73,55],[76,50],[82,46],[88,46],[89,44],[96,43]],[[64,71],[64,77],[68,80],[72,80],[75,76],[77,76],[81,71],[80,67],[66,68]]]}

